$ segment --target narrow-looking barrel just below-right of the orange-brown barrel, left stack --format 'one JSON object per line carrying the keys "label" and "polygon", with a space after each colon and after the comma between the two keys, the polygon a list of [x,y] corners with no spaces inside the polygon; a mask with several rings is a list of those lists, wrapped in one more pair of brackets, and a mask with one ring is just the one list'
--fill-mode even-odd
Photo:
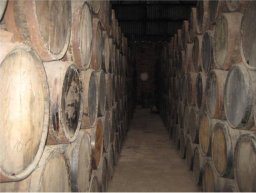
{"label": "narrow-looking barrel just below-right of the orange-brown barrel, left stack", "polygon": [[106,192],[108,190],[108,182],[109,182],[109,173],[108,173],[108,162],[105,156],[102,157],[101,164],[99,168],[96,170],[99,189],[101,192]]}

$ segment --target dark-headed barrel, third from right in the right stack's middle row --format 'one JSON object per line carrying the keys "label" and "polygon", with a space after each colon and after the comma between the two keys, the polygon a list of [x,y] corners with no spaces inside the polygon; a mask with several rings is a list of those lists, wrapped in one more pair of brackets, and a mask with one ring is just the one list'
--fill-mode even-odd
{"label": "dark-headed barrel, third from right in the right stack's middle row", "polygon": [[206,74],[199,72],[196,77],[196,107],[200,110],[205,106]]}

